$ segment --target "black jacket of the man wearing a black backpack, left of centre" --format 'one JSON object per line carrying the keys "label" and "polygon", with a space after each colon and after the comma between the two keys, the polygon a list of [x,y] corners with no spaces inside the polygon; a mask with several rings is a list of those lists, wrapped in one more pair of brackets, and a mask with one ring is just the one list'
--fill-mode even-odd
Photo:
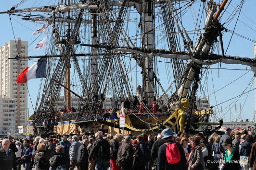
{"label": "black jacket of the man wearing a black backpack, left of centre", "polygon": [[[92,145],[88,160],[91,160],[91,158],[93,157],[95,159],[102,159],[102,153],[100,150],[103,143],[106,145],[106,147],[110,148],[108,141],[103,139],[102,137],[99,137]],[[107,154],[109,155],[110,159],[110,151]]]}

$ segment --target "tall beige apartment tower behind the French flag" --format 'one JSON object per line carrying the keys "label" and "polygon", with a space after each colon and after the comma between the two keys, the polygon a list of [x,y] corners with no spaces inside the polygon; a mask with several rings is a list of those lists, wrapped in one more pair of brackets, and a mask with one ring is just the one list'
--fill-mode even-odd
{"label": "tall beige apartment tower behind the French flag", "polygon": [[27,41],[9,41],[0,46],[0,95],[4,99],[14,99],[15,125],[26,125],[27,112],[27,86],[25,84],[15,84],[20,72],[27,67],[26,59],[8,59],[13,57],[25,57],[28,55]]}

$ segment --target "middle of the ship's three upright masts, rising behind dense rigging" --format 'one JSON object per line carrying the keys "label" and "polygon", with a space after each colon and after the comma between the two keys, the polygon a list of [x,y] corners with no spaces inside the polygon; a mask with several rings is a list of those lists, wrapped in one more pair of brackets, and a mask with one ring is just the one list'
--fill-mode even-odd
{"label": "middle of the ship's three upright masts, rising behind dense rigging", "polygon": [[[94,2],[94,0],[92,0]],[[91,10],[91,44],[97,44],[97,10]],[[91,92],[92,95],[98,91],[98,56],[97,48],[91,47]]]}

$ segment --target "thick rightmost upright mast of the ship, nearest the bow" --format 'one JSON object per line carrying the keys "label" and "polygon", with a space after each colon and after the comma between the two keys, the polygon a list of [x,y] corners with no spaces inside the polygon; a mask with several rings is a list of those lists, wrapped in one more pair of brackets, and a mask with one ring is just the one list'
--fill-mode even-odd
{"label": "thick rightmost upright mast of the ship, nearest the bow", "polygon": [[[153,49],[154,45],[154,32],[153,32],[153,15],[154,15],[154,3],[151,0],[143,0],[143,19],[144,19],[144,47]],[[154,102],[154,77],[153,77],[153,59],[154,54],[145,56],[145,97],[148,103]]]}

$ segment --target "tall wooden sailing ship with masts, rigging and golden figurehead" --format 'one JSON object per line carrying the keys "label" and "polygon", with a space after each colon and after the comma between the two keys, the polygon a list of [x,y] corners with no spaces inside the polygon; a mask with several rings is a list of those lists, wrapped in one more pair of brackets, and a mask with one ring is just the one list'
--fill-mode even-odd
{"label": "tall wooden sailing ship with masts, rigging and golden figurehead", "polygon": [[[225,26],[236,20],[227,17],[232,3],[58,0],[25,9],[17,4],[0,12],[49,27],[46,55],[15,57],[45,63],[28,134],[94,135],[102,130],[138,135],[142,129],[159,133],[165,128],[223,133],[218,131],[222,117],[209,102],[207,109],[197,105],[196,96],[206,97],[212,65],[246,65],[255,74],[256,59],[225,53],[222,37],[230,31]],[[241,8],[238,4],[234,12]],[[63,106],[58,105],[60,94]],[[67,113],[73,99],[76,111]]]}

